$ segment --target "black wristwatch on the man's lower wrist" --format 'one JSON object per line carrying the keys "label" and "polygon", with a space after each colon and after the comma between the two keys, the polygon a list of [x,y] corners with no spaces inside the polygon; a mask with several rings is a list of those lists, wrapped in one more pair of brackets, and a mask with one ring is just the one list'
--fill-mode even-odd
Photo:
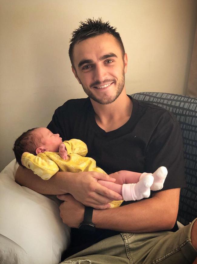
{"label": "black wristwatch on the man's lower wrist", "polygon": [[83,222],[78,227],[80,230],[90,234],[95,232],[95,224],[92,223],[92,213],[93,208],[85,206]]}

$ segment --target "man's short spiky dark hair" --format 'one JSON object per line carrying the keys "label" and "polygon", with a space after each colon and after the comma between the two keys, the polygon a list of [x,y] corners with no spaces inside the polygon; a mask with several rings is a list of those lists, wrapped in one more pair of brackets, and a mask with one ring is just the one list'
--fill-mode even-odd
{"label": "man's short spiky dark hair", "polygon": [[71,44],[68,54],[73,67],[73,49],[75,44],[78,44],[80,41],[87,38],[95,37],[105,33],[111,34],[115,37],[122,50],[122,57],[124,57],[125,48],[123,46],[120,34],[116,32],[116,27],[110,26],[109,21],[103,22],[102,18],[98,18],[97,20],[88,18],[87,21],[80,21],[80,26],[78,29],[72,32],[72,38],[70,39]]}

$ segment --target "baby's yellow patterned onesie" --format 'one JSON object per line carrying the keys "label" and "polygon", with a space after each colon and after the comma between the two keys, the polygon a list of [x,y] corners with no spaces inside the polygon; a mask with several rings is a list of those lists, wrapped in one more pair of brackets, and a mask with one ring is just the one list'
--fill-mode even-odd
{"label": "baby's yellow patterned onesie", "polygon": [[[45,151],[37,156],[24,152],[22,154],[22,164],[32,170],[43,180],[50,179],[58,171],[82,172],[97,171],[105,173],[96,166],[96,161],[90,157],[85,157],[88,153],[86,144],[79,139],[71,139],[63,142],[65,144],[68,159],[63,160],[58,152]],[[112,201],[111,208],[118,207],[123,201]]]}

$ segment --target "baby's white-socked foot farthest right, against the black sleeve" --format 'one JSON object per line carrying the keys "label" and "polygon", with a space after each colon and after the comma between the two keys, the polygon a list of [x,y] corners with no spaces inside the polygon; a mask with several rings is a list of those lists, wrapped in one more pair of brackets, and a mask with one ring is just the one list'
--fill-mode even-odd
{"label": "baby's white-socked foot farthest right, against the black sleeve", "polygon": [[152,176],[154,177],[154,181],[153,181],[153,184],[152,184],[150,189],[152,191],[161,190],[163,188],[163,184],[164,184],[164,181],[165,181],[167,174],[168,174],[168,171],[167,171],[166,167],[163,167],[163,166],[159,167],[159,169],[157,169],[152,174]]}

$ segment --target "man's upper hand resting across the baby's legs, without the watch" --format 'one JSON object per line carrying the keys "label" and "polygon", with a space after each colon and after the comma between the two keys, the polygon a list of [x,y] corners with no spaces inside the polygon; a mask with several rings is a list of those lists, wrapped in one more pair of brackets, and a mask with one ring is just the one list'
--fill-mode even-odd
{"label": "man's upper hand resting across the baby's legs, without the watch", "polygon": [[110,207],[109,202],[122,200],[120,194],[100,185],[98,180],[115,181],[109,175],[95,171],[75,173],[67,185],[68,193],[85,206],[95,209],[106,209]]}

